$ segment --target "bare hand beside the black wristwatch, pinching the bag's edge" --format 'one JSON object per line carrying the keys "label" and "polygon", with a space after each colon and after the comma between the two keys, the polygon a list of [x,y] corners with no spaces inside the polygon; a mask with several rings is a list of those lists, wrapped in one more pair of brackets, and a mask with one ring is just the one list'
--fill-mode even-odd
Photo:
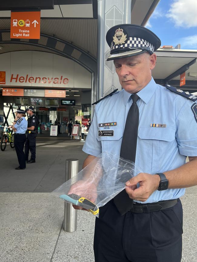
{"label": "bare hand beside the black wristwatch, pinching the bag's edge", "polygon": [[[132,177],[125,183],[125,190],[131,199],[144,202],[155,190],[158,189],[159,182],[159,175],[139,173],[137,176]],[[140,185],[138,188],[137,183]]]}

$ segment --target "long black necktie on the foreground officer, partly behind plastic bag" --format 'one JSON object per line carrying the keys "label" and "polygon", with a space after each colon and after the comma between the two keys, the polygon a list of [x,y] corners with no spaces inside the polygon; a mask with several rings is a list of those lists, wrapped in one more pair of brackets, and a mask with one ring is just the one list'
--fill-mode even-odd
{"label": "long black necktie on the foreground officer, partly behind plastic bag", "polygon": [[[125,160],[132,160],[135,162],[138,125],[139,125],[139,108],[136,104],[139,96],[137,94],[131,95],[133,103],[129,109],[125,130],[122,137],[122,144],[120,149],[120,157]],[[126,182],[128,179],[122,182]],[[114,197],[114,203],[121,215],[124,215],[133,206],[133,200],[129,198],[127,192],[122,190],[117,196]]]}

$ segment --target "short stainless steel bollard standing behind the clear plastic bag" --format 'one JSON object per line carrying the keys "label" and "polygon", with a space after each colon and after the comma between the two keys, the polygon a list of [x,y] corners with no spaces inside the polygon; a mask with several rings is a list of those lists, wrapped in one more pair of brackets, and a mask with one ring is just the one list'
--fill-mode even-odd
{"label": "short stainless steel bollard standing behind the clear plastic bag", "polygon": [[[71,179],[78,173],[79,160],[70,158],[66,159],[65,181]],[[77,210],[71,204],[64,203],[64,230],[73,232],[77,230]]]}

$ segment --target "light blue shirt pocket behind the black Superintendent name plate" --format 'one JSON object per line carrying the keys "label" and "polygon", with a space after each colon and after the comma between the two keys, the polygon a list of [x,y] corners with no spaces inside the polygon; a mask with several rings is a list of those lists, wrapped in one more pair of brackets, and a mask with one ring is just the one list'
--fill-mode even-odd
{"label": "light blue shirt pocket behind the black Superintendent name plate", "polygon": [[[114,130],[114,136],[99,136],[99,130],[103,131],[112,131]],[[120,147],[122,143],[122,136],[123,136],[123,128],[122,127],[113,127],[110,129],[104,129],[104,128],[99,128],[97,133],[97,140],[101,141],[102,145],[102,152],[103,151],[108,151],[111,152],[112,154],[119,154],[120,153]],[[119,150],[119,152],[117,152]]]}

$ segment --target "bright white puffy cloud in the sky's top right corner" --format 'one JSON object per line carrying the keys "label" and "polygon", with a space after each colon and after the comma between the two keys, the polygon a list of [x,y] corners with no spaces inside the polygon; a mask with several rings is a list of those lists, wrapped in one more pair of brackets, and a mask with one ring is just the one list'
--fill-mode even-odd
{"label": "bright white puffy cloud in the sky's top right corner", "polygon": [[197,1],[175,0],[166,15],[177,27],[197,26]]}

